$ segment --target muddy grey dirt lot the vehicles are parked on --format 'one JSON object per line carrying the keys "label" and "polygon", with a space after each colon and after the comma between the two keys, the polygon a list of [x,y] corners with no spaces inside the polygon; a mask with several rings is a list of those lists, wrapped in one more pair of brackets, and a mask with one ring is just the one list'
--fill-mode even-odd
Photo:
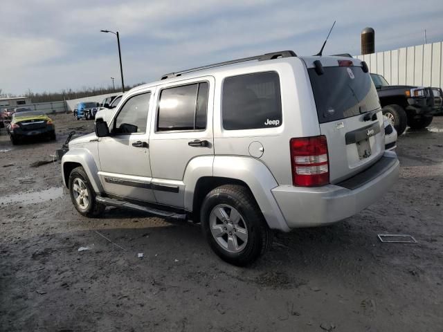
{"label": "muddy grey dirt lot the vehicles are parked on", "polygon": [[443,331],[443,118],[399,138],[400,179],[381,201],[275,234],[249,268],[218,259],[199,225],[80,216],[60,165],[30,165],[93,122],[54,120],[57,142],[12,147],[1,129],[1,331]]}

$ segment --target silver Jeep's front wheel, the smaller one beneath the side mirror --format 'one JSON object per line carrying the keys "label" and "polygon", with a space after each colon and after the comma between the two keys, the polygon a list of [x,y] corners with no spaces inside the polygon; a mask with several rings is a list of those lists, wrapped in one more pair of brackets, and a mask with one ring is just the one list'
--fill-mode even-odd
{"label": "silver Jeep's front wheel, the smaller one beneath the side mirror", "polygon": [[96,193],[83,167],[74,168],[69,175],[69,194],[75,209],[83,216],[99,216],[106,208],[97,203]]}

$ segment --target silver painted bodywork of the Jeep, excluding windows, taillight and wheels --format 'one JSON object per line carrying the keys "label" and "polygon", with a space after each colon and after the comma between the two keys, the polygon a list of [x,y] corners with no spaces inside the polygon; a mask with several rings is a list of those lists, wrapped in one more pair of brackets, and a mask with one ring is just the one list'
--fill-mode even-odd
{"label": "silver painted bodywork of the Jeep, excluding windows, taillight and wheels", "polygon": [[[343,120],[344,130],[334,122],[319,124],[307,68],[318,57],[288,57],[212,68],[138,86],[123,96],[111,114],[114,121],[125,100],[152,92],[147,130],[143,140],[149,148],[133,148],[136,134],[126,138],[73,140],[64,163],[78,162],[87,171],[94,190],[150,203],[183,208],[192,212],[195,187],[200,178],[233,178],[248,185],[269,227],[291,228],[331,223],[355,214],[373,203],[395,183],[398,163],[370,183],[355,190],[336,185],[377,163],[384,152],[383,118],[363,122],[361,116]],[[337,57],[322,57],[336,65]],[[348,59],[348,58],[345,58]],[[352,59],[359,65],[358,59]],[[324,65],[325,65],[324,64]],[[221,93],[226,77],[273,71],[280,77],[282,124],[280,127],[225,130],[221,120]],[[369,75],[369,74],[368,74]],[[201,131],[156,132],[157,107],[161,89],[178,84],[209,82],[208,120]],[[379,124],[381,132],[369,139],[370,158],[361,160],[356,147],[345,145],[347,131]],[[294,137],[327,136],[331,185],[316,188],[292,185],[289,140]],[[95,142],[89,142],[95,138]],[[207,140],[207,147],[190,147],[192,140]],[[391,158],[397,158],[395,154]],[[119,182],[120,181],[120,182]],[[335,183],[335,184],[334,184]],[[343,206],[346,205],[344,208]],[[315,207],[315,208],[309,208]],[[342,208],[341,208],[342,207]]]}

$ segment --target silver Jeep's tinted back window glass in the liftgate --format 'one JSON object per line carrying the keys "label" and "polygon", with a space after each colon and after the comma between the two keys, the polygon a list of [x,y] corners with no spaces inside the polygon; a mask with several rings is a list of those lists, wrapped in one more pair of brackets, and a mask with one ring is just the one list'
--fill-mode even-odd
{"label": "silver Jeep's tinted back window glass in the liftgate", "polygon": [[323,67],[318,75],[309,68],[318,122],[342,120],[380,107],[372,79],[358,66]]}

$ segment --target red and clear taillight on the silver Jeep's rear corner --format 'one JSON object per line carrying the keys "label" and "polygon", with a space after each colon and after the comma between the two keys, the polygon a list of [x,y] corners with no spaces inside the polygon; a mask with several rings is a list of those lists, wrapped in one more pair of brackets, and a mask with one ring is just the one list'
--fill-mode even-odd
{"label": "red and clear taillight on the silver Jeep's rear corner", "polygon": [[291,138],[292,183],[318,187],[329,183],[329,163],[325,136]]}

